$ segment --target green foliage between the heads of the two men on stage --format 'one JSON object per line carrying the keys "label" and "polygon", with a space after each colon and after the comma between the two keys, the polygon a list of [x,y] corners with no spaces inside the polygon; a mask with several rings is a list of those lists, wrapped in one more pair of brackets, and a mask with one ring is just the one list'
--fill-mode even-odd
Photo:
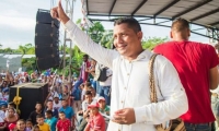
{"label": "green foliage between the heads of the two men on stage", "polygon": [[143,38],[141,44],[142,44],[143,49],[152,50],[157,45],[165,43],[168,40],[169,40],[168,37],[164,37],[164,38],[161,38],[161,37],[148,37],[148,38]]}

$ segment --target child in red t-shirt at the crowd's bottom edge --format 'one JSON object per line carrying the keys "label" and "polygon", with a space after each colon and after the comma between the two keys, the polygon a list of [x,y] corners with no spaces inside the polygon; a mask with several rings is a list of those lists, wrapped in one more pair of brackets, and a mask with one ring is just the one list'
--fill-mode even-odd
{"label": "child in red t-shirt at the crowd's bottom edge", "polygon": [[59,111],[59,120],[56,124],[56,131],[71,131],[71,121],[66,118],[64,111]]}

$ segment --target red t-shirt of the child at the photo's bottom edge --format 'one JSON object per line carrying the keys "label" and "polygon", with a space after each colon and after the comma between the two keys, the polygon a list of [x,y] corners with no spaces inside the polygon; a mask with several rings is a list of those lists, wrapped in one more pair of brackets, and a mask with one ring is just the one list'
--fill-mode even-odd
{"label": "red t-shirt of the child at the photo's bottom edge", "polygon": [[71,121],[69,119],[58,120],[56,127],[58,128],[58,131],[69,131],[69,128],[71,127]]}

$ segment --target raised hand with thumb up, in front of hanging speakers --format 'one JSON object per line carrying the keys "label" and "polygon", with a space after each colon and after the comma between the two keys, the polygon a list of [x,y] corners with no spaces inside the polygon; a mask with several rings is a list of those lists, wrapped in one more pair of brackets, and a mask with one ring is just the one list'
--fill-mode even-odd
{"label": "raised hand with thumb up, in front of hanging speakers", "polygon": [[57,19],[58,21],[62,22],[66,24],[69,21],[69,17],[66,15],[62,5],[61,5],[61,0],[58,2],[58,7],[53,8],[50,10],[50,15],[53,19]]}

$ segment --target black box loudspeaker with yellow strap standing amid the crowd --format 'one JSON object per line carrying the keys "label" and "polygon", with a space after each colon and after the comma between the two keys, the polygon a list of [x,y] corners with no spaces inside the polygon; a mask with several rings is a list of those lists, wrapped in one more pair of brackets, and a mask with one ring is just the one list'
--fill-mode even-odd
{"label": "black box loudspeaker with yellow strap standing amid the crowd", "polygon": [[21,110],[21,119],[27,119],[30,114],[35,110],[36,103],[44,105],[44,102],[48,95],[48,84],[44,83],[24,83],[10,87],[9,100],[13,102],[19,90],[19,96],[22,97],[19,109]]}

